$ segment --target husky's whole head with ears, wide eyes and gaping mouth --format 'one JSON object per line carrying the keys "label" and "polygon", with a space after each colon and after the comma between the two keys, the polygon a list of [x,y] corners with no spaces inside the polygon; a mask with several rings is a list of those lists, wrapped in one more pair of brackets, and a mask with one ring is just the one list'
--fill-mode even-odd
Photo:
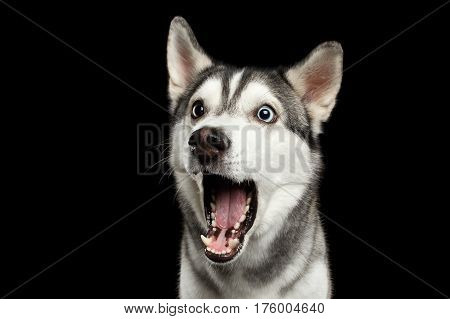
{"label": "husky's whole head with ears, wide eyes and gaping mouth", "polygon": [[186,222],[210,260],[230,262],[272,239],[315,178],[342,49],[326,42],[291,68],[239,69],[214,62],[177,17],[167,63],[170,163]]}

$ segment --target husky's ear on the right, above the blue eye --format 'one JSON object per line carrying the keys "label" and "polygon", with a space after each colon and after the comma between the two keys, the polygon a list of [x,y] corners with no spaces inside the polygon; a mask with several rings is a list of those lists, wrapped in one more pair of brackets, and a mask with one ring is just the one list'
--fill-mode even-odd
{"label": "husky's ear on the right, above the blue eye", "polygon": [[342,80],[342,47],[324,42],[302,62],[286,72],[286,77],[302,99],[312,120],[315,134],[331,114]]}

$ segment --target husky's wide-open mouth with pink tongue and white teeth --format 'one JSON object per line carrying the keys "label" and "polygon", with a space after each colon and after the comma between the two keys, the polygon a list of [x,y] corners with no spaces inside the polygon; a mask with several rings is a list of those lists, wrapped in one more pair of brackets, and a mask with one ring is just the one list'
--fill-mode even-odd
{"label": "husky's wide-open mouth with pink tongue and white teeth", "polygon": [[203,189],[208,223],[206,237],[201,235],[205,254],[215,262],[232,260],[255,221],[258,206],[255,183],[236,183],[219,175],[205,175]]}

